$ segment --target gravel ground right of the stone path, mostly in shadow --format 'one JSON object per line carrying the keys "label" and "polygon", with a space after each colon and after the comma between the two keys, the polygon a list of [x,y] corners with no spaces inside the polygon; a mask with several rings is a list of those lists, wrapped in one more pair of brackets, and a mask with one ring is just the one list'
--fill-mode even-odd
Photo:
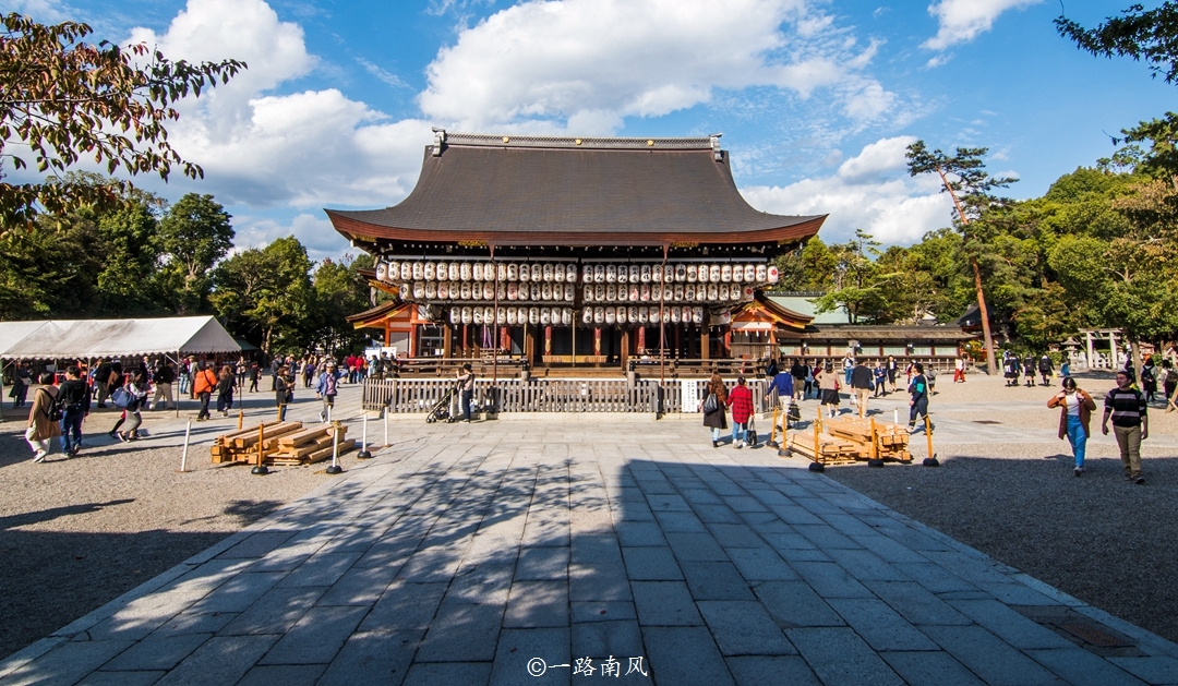
{"label": "gravel ground right of the stone path, mostly in shadow", "polygon": [[[1046,408],[968,409],[971,403],[1007,400],[1045,403],[1054,389],[1006,389],[998,380],[977,375],[957,387],[938,385],[934,417],[984,415],[1019,428],[1058,424],[1058,410]],[[1098,403],[1112,385],[1110,376],[1081,380]],[[938,405],[945,405],[940,413]],[[1165,415],[1158,407],[1151,420],[1154,437],[1172,438],[1178,414]],[[1093,422],[1099,431],[1099,417]],[[922,444],[922,436],[916,436],[919,457]],[[1178,453],[1149,444],[1143,448],[1145,486],[1121,479],[1113,446],[1091,443],[1088,473],[1077,479],[1066,442],[941,442],[939,469],[919,466],[918,457],[908,467],[853,464],[827,469],[827,475],[1065,593],[1178,641]]]}

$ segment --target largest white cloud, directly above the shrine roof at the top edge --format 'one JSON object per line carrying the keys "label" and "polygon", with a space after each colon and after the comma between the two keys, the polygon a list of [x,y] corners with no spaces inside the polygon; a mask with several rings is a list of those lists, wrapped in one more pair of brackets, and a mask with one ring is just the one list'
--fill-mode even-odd
{"label": "largest white cloud, directly above the shrine roof at the top edge", "polygon": [[[876,44],[855,45],[808,0],[528,1],[459,31],[426,70],[428,117],[465,130],[519,123],[610,133],[715,90],[819,88],[853,119],[895,95],[862,74]],[[581,130],[577,130],[581,132]]]}

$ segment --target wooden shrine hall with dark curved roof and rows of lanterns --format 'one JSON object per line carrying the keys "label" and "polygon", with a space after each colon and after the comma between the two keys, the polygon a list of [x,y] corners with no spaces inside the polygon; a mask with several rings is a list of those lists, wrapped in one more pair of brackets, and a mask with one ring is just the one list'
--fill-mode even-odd
{"label": "wooden shrine hall with dark curved roof and rows of lanterns", "polygon": [[719,134],[436,130],[401,204],[326,211],[377,258],[368,276],[392,297],[350,319],[382,330],[403,368],[439,372],[490,360],[556,376],[668,363],[702,374],[773,355],[775,331],[810,317],[761,291],[780,288],[774,259],[826,216],[753,209],[729,161]]}

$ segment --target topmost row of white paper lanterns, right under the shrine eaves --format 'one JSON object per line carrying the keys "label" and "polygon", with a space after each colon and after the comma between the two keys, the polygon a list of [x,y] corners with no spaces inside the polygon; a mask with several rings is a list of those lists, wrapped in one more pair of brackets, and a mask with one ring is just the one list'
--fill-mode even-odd
{"label": "topmost row of white paper lanterns, right under the shrine eaves", "polygon": [[[380,262],[385,282],[476,281],[535,283],[777,283],[772,264],[575,264],[483,262]],[[578,278],[580,277],[580,278]]]}

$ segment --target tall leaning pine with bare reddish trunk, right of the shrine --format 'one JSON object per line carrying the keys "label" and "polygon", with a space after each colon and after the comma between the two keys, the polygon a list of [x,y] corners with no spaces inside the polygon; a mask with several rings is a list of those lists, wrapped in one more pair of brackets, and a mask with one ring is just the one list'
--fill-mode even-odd
{"label": "tall leaning pine with bare reddish trunk, right of the shrine", "polygon": [[957,226],[966,238],[964,248],[973,270],[978,309],[981,314],[982,338],[986,345],[986,367],[990,374],[994,375],[998,374],[998,362],[994,356],[994,337],[990,330],[990,309],[986,306],[979,265],[979,253],[985,250],[986,237],[979,236],[977,231],[969,231],[967,227],[984,212],[1008,204],[1008,200],[994,196],[993,191],[1006,187],[1017,179],[990,176],[981,160],[986,152],[985,147],[959,147],[957,154],[949,157],[940,150],[929,151],[924,140],[918,140],[908,146],[906,157],[911,176],[935,172],[941,178],[942,190],[953,198],[953,206],[957,209]]}

